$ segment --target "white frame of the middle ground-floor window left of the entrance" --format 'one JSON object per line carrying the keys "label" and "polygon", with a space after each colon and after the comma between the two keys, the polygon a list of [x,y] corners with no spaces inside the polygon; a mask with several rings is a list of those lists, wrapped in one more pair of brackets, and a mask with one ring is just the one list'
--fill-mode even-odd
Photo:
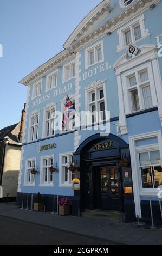
{"label": "white frame of the middle ground-floor window left of the entrance", "polygon": [[[50,173],[49,169],[47,170],[47,182],[43,181],[43,160],[44,159],[53,159],[53,165],[54,165],[54,155],[44,155],[41,156],[41,164],[40,164],[40,185],[41,187],[53,187],[54,186],[54,173]],[[50,167],[50,164],[48,165],[48,168]],[[50,175],[53,175],[53,181],[50,182]]]}

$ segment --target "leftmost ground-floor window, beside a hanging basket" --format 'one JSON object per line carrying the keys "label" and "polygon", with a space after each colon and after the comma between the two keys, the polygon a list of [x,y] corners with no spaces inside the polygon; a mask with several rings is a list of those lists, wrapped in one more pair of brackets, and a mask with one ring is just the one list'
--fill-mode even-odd
{"label": "leftmost ground-floor window, beside a hanging basket", "polygon": [[25,175],[25,184],[34,185],[35,184],[35,174],[31,174],[31,169],[35,167],[36,160],[30,159],[26,163],[26,175]]}

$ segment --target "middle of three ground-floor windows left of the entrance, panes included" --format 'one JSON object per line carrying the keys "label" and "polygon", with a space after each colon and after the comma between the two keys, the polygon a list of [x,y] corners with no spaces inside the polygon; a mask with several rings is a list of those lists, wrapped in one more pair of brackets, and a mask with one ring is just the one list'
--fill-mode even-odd
{"label": "middle of three ground-floor windows left of the entrance, panes included", "polygon": [[42,185],[53,185],[54,173],[49,170],[51,166],[54,166],[53,155],[42,157]]}

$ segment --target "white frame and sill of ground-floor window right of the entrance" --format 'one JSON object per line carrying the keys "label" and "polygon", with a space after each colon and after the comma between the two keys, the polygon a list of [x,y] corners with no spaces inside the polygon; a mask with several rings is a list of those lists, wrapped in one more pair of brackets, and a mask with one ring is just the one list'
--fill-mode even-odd
{"label": "white frame and sill of ground-floor window right of the entrance", "polygon": [[[151,144],[142,147],[137,147],[135,143],[141,139],[158,138],[158,144]],[[157,196],[157,188],[142,188],[141,174],[139,173],[139,158],[137,157],[138,150],[158,149],[160,151],[160,157],[162,159],[162,136],[161,131],[154,131],[143,133],[140,135],[129,137],[129,148],[131,154],[132,163],[132,181],[133,181],[133,191],[134,191],[134,202],[135,202],[135,213],[141,218],[141,206],[140,206],[140,196]]]}

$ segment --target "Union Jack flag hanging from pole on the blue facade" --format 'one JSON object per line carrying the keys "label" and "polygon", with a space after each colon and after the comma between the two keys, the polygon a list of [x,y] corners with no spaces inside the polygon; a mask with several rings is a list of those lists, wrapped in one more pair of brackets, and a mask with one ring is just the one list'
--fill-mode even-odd
{"label": "Union Jack flag hanging from pole on the blue facade", "polygon": [[64,131],[64,127],[67,127],[68,125],[68,118],[70,113],[76,113],[76,109],[70,101],[68,95],[66,97],[66,103],[64,105],[64,113],[63,113],[63,118],[62,118],[62,130]]}

